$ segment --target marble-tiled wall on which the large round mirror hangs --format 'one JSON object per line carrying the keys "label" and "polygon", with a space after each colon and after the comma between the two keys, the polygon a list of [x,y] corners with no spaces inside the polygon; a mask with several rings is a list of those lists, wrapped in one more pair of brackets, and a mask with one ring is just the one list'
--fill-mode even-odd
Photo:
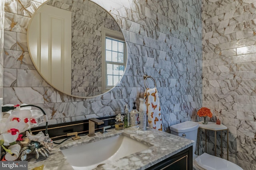
{"label": "marble-tiled wall on which the large round mirror hangs", "polygon": [[[80,1],[80,0],[77,0]],[[34,68],[26,30],[44,0],[6,0],[4,102],[37,104],[50,123],[124,113],[144,94],[143,75],[156,80],[164,131],[194,120],[202,106],[201,0],[93,0],[112,14],[127,41],[128,65],[120,83],[94,98],[74,98],[49,86]],[[149,87],[154,87],[147,80]]]}

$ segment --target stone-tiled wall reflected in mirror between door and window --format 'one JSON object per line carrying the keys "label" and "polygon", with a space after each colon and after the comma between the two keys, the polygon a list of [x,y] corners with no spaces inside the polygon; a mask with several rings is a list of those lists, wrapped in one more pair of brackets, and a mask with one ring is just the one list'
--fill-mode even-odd
{"label": "stone-tiled wall reflected in mirror between door and window", "polygon": [[121,31],[120,27],[94,2],[50,0],[47,4],[72,12],[71,94],[102,94],[102,27]]}

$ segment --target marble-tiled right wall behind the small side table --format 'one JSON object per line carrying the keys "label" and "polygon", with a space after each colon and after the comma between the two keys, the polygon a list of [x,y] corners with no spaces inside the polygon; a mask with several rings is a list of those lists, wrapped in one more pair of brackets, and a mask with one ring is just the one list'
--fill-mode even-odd
{"label": "marble-tiled right wall behind the small side table", "polygon": [[255,6],[255,0],[203,0],[202,6],[202,105],[229,128],[230,160],[244,170],[256,169]]}

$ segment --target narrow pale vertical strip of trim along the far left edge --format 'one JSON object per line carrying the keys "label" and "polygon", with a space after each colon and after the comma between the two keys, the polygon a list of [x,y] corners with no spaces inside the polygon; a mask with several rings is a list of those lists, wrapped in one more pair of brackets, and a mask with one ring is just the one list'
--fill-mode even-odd
{"label": "narrow pale vertical strip of trim along the far left edge", "polygon": [[0,2],[0,98],[4,96],[4,0]]}

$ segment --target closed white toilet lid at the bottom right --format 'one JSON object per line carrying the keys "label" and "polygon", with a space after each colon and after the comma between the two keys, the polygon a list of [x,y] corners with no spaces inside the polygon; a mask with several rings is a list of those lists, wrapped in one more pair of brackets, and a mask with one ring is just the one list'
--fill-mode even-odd
{"label": "closed white toilet lid at the bottom right", "polygon": [[194,163],[196,163],[196,165],[198,165],[202,170],[243,170],[233,162],[207,153],[203,153],[198,156]]}

